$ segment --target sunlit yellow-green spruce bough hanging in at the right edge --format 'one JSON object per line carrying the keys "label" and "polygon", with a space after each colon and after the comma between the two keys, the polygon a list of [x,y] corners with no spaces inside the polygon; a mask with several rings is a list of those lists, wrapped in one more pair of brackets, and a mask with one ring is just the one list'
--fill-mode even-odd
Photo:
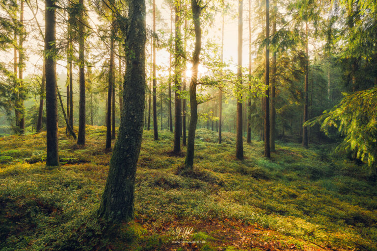
{"label": "sunlit yellow-green spruce bough hanging in at the right edge", "polygon": [[307,125],[322,123],[321,128],[329,133],[334,126],[344,136],[339,151],[356,152],[376,172],[377,158],[377,88],[345,94],[344,99],[322,116],[309,121]]}

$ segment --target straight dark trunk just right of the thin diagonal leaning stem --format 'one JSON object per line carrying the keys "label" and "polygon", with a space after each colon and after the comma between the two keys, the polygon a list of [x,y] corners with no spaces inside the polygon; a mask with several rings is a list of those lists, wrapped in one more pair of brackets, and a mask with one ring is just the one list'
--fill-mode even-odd
{"label": "straight dark trunk just right of the thin diagonal leaning stem", "polygon": [[[83,0],[79,0],[79,3],[84,4]],[[84,71],[84,25],[83,25],[83,13],[81,15],[81,23],[79,25],[79,133],[77,137],[78,145],[85,145],[85,124],[86,124],[86,110],[85,110],[85,71]]]}

